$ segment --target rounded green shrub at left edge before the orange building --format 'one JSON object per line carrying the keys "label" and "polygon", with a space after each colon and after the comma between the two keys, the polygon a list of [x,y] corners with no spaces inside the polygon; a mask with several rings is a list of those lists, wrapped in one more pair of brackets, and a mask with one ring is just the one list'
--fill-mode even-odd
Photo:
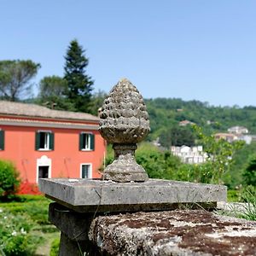
{"label": "rounded green shrub at left edge before the orange building", "polygon": [[20,185],[19,172],[6,160],[0,160],[0,199],[14,195]]}

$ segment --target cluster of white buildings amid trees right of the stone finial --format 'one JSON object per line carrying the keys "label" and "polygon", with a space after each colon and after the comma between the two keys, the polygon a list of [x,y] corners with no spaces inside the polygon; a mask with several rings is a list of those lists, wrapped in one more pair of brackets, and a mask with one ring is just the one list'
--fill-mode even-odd
{"label": "cluster of white buildings amid trees right of the stone finial", "polygon": [[183,163],[187,164],[201,164],[207,160],[207,154],[203,152],[202,146],[188,147],[183,145],[182,147],[171,147],[173,155],[179,157]]}

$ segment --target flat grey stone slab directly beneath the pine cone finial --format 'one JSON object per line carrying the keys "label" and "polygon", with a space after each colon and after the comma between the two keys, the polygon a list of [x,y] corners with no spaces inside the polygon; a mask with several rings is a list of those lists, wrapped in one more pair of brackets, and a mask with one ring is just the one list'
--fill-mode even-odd
{"label": "flat grey stone slab directly beneath the pine cone finial", "polygon": [[39,189],[77,212],[129,212],[172,209],[174,204],[226,201],[222,185],[149,179],[115,183],[98,179],[41,178]]}

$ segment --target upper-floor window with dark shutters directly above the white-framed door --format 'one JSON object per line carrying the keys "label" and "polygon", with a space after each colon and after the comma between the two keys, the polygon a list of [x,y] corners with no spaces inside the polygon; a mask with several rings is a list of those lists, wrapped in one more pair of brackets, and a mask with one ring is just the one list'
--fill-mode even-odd
{"label": "upper-floor window with dark shutters directly above the white-framed door", "polygon": [[36,150],[53,150],[54,133],[50,131],[38,131],[36,133]]}

